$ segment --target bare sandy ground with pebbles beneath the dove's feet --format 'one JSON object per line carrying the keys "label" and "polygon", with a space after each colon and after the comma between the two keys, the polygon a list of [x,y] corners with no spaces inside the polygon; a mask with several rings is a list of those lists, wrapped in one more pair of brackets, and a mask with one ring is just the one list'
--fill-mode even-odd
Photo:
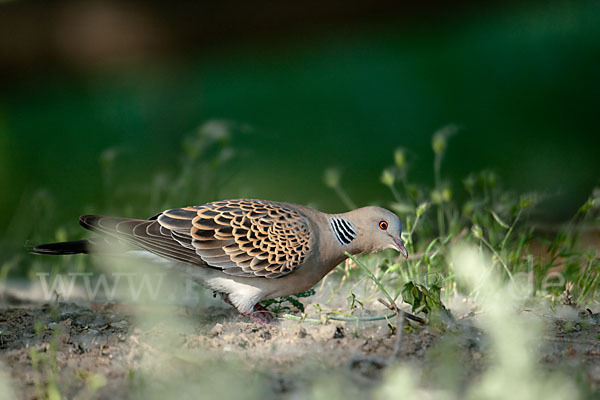
{"label": "bare sandy ground with pebbles beneath the dove's feet", "polygon": [[[573,309],[561,317],[534,317],[546,326],[540,368],[583,380],[593,398],[600,388],[599,314]],[[444,334],[405,324],[399,337],[386,321],[310,324],[282,318],[261,326],[216,303],[147,310],[48,303],[4,290],[0,360],[16,396],[25,399],[51,397],[53,384],[67,398],[163,398],[174,392],[298,398],[323,376],[347,382],[345,390],[357,395],[369,393],[399,362],[414,362],[435,378],[446,348],[458,354],[457,379],[473,379],[487,357],[486,337],[473,318],[464,316]]]}

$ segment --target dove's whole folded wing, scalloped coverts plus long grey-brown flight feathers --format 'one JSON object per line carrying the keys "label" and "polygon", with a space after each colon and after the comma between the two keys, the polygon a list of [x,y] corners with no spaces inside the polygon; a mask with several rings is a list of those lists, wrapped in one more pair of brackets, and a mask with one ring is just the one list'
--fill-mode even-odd
{"label": "dove's whole folded wing, scalloped coverts plus long grey-brown flight feathers", "polygon": [[304,215],[262,200],[226,200],[166,210],[151,220],[83,216],[91,230],[163,257],[245,277],[295,271],[313,247]]}

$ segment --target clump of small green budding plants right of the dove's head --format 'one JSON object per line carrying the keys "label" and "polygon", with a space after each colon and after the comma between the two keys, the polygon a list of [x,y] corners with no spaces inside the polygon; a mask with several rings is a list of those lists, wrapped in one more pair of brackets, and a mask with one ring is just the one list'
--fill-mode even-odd
{"label": "clump of small green budding plants right of the dove's head", "polygon": [[[363,257],[362,263],[352,258],[353,265],[358,265],[362,274],[353,274],[346,268],[342,282],[354,277],[357,284],[364,285],[367,297],[380,292],[389,294],[395,301],[402,295],[415,312],[442,310],[442,301],[461,290],[450,268],[448,252],[465,242],[489,251],[491,268],[531,298],[537,296],[540,300],[555,302],[565,293],[567,282],[572,282],[569,295],[573,303],[597,302],[600,257],[595,250],[582,248],[579,239],[585,223],[595,224],[596,229],[600,227],[600,189],[594,189],[571,221],[548,238],[529,221],[532,211],[544,197],[507,191],[502,188],[500,178],[489,170],[469,174],[462,182],[462,191],[444,179],[442,160],[449,148],[449,139],[457,132],[456,126],[449,125],[433,135],[432,188],[410,181],[407,151],[403,148],[395,150],[394,163],[381,174],[381,183],[392,195],[389,208],[404,223],[402,239],[409,251],[409,259],[404,261],[396,257],[376,263],[375,270],[369,270],[363,268],[365,260],[378,256]],[[326,174],[328,186],[349,205],[339,172],[335,179],[330,175],[331,172]],[[534,253],[540,246],[545,253],[543,256]],[[556,278],[557,271],[560,271],[560,279]],[[483,277],[490,272],[481,271]],[[523,276],[529,277],[526,285],[522,282]],[[467,295],[477,297],[481,287],[471,287]],[[353,289],[350,292],[354,294]],[[435,299],[439,299],[438,305]]]}

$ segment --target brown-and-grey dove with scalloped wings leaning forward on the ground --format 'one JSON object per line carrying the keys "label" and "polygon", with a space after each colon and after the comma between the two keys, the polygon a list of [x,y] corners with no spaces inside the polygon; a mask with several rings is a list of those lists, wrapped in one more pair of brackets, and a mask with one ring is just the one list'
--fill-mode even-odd
{"label": "brown-and-grey dove with scalloped wings leaning forward on the ground", "polygon": [[79,223],[97,235],[42,244],[32,252],[94,253],[125,245],[168,261],[261,324],[273,320],[261,301],[312,288],[347,253],[395,249],[408,257],[400,219],[375,206],[326,214],[291,203],[234,199],[173,208],[149,219],[83,215]]}

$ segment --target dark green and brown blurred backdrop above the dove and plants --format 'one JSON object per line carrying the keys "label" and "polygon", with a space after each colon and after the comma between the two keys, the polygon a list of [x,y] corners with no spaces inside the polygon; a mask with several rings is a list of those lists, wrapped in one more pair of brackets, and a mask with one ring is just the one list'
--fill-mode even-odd
{"label": "dark green and brown blurred backdrop above the dove and plants", "polygon": [[0,3],[4,244],[84,212],[149,217],[151,190],[132,188],[168,186],[215,120],[233,132],[227,178],[197,203],[344,210],[322,178],[337,166],[358,204],[385,204],[394,149],[431,185],[431,135],[453,123],[457,196],[489,168],[545,196],[537,218],[572,215],[600,175],[600,2],[365,3]]}

